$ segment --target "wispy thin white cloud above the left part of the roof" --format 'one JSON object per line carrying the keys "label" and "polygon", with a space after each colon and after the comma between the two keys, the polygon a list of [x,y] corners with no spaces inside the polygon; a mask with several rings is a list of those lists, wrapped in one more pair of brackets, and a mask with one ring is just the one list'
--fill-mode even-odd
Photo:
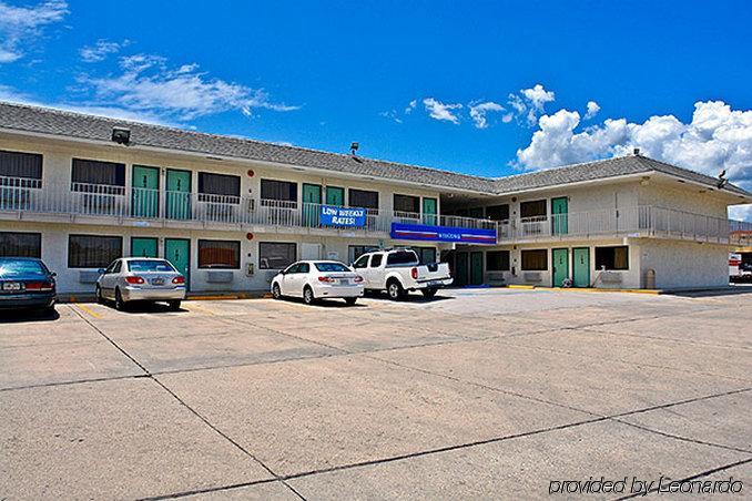
{"label": "wispy thin white cloud above the left part of the roof", "polygon": [[230,110],[251,116],[256,109],[298,109],[273,102],[263,90],[209,78],[195,63],[171,69],[162,57],[135,54],[121,58],[120,69],[115,75],[79,79],[92,90],[96,105],[177,121]]}

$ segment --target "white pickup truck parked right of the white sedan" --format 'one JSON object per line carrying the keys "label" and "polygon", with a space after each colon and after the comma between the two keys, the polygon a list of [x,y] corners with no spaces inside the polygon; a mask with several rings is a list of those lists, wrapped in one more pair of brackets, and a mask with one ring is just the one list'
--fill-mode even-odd
{"label": "white pickup truck parked right of the white sedan", "polygon": [[415,250],[405,248],[364,254],[353,269],[363,277],[366,290],[386,290],[393,300],[411,290],[434,297],[439,288],[451,285],[447,263],[421,265]]}

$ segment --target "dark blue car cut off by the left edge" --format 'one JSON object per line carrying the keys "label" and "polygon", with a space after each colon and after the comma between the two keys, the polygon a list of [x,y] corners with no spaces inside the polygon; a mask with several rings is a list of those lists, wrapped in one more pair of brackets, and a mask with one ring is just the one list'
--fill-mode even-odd
{"label": "dark blue car cut off by the left edge", "polygon": [[53,310],[54,274],[41,259],[0,257],[0,309]]}

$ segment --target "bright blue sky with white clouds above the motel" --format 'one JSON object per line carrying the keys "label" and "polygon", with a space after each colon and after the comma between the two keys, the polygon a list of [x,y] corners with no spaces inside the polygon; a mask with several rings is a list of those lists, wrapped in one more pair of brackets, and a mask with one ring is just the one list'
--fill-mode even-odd
{"label": "bright blue sky with white clouds above the motel", "polygon": [[752,188],[751,20],[743,1],[0,0],[0,99],[490,176],[640,146]]}

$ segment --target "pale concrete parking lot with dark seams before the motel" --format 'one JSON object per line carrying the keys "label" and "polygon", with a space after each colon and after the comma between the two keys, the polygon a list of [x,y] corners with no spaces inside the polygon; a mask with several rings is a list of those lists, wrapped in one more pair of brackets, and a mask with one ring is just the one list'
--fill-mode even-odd
{"label": "pale concrete parking lot with dark seams before the motel", "polygon": [[0,319],[0,499],[535,499],[590,477],[628,478],[604,498],[661,477],[752,490],[752,294],[58,314]]}

